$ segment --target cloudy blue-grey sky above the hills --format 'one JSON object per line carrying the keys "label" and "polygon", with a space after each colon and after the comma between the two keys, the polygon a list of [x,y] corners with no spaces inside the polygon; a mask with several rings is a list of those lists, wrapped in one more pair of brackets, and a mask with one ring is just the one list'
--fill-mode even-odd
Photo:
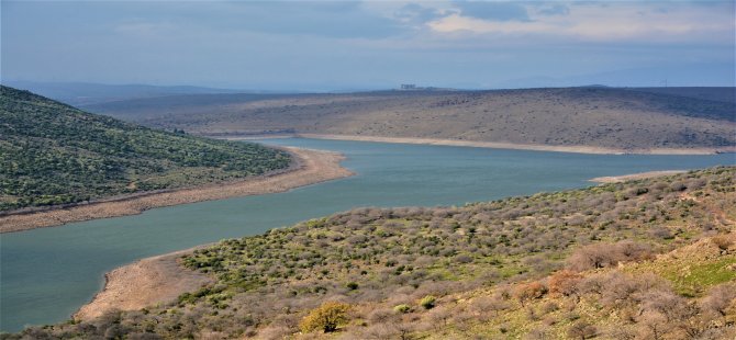
{"label": "cloudy blue-grey sky above the hills", "polygon": [[5,81],[734,86],[734,1],[5,1]]}

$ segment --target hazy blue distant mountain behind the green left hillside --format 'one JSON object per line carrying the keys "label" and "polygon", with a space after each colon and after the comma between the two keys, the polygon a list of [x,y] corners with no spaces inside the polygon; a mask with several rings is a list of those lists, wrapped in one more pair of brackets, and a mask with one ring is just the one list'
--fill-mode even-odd
{"label": "hazy blue distant mountain behind the green left hillside", "polygon": [[138,98],[176,94],[236,93],[241,90],[201,87],[157,87],[148,84],[102,84],[89,82],[3,81],[3,84],[67,103],[74,106]]}

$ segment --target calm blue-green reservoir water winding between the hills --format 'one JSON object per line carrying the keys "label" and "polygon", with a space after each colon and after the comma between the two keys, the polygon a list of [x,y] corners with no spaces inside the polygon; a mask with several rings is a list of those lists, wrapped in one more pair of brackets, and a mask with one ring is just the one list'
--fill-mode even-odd
{"label": "calm blue-green reservoir water winding between the hills", "polygon": [[141,258],[357,206],[453,205],[591,185],[632,172],[734,165],[735,156],[595,156],[315,139],[274,145],[344,152],[358,174],[287,193],[157,208],[0,236],[0,329],[67,319],[103,274]]}

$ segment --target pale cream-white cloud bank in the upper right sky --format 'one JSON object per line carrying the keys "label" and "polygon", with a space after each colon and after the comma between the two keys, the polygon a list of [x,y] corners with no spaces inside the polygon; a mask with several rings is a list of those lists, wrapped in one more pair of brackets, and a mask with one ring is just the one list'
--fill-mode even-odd
{"label": "pale cream-white cloud bank in the upper right sky", "polygon": [[[488,21],[451,14],[428,23],[436,33],[451,36],[491,34],[573,38],[583,42],[727,42],[735,27],[733,11],[723,7],[634,2],[570,4],[564,15],[527,4],[529,21]],[[726,7],[727,8],[727,7]],[[459,33],[459,34],[458,34]]]}

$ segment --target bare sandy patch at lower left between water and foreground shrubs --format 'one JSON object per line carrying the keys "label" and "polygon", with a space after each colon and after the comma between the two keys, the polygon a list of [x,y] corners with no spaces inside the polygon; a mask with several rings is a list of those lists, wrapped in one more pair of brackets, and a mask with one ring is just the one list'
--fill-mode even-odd
{"label": "bare sandy patch at lower left between water and foreground shrubs", "polygon": [[178,263],[179,257],[192,250],[143,259],[107,273],[104,290],[74,318],[90,320],[110,310],[138,310],[165,304],[211,283],[209,276]]}

